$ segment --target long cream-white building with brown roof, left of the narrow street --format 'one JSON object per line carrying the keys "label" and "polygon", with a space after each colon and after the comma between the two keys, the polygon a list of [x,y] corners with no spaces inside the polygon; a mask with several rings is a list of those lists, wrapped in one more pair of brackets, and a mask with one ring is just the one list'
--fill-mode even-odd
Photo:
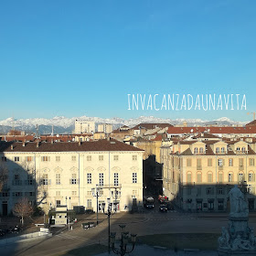
{"label": "long cream-white building with brown roof, left of the narrow street", "polygon": [[0,193],[0,214],[9,214],[21,197],[46,211],[58,205],[96,211],[96,187],[100,211],[108,198],[117,211],[142,205],[143,153],[115,140],[2,143],[0,159],[8,181]]}

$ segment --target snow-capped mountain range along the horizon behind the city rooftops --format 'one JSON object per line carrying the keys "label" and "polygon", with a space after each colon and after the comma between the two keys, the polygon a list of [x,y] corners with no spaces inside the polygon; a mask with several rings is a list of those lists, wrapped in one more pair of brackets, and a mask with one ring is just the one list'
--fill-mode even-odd
{"label": "snow-capped mountain range along the horizon behind the city rooftops", "polygon": [[140,116],[138,118],[123,119],[119,117],[114,118],[100,118],[100,117],[72,117],[68,118],[65,116],[56,116],[51,119],[47,118],[28,118],[28,119],[14,119],[12,117],[0,121],[0,133],[7,133],[13,127],[16,130],[26,131],[27,133],[35,133],[36,126],[39,125],[39,133],[51,133],[52,125],[54,126],[54,133],[72,133],[75,127],[75,121],[94,121],[97,124],[99,123],[112,123],[113,128],[116,129],[121,125],[127,125],[133,127],[138,123],[183,123],[187,122],[188,126],[195,125],[205,125],[205,124],[218,124],[218,125],[231,125],[231,124],[240,124],[244,125],[249,122],[235,122],[230,120],[227,117],[221,117],[217,120],[208,121],[201,119],[170,119],[170,118],[158,118],[155,116]]}

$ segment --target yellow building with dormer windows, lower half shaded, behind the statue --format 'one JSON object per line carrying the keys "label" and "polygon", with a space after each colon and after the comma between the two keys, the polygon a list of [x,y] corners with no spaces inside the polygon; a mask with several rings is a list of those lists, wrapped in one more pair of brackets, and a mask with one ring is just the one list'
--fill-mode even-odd
{"label": "yellow building with dormer windows, lower half shaded, behind the statue", "polygon": [[223,211],[238,184],[256,208],[255,144],[245,141],[180,141],[161,148],[166,197],[187,211]]}

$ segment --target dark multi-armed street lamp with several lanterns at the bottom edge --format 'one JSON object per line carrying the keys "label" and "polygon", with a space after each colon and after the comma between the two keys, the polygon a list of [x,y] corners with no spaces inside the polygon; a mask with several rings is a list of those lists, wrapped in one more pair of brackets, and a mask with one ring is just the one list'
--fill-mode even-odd
{"label": "dark multi-armed street lamp with several lanterns at the bottom edge", "polygon": [[[131,253],[133,251],[137,235],[131,234],[129,237],[129,232],[124,231],[125,225],[119,225],[119,227],[121,229],[120,250],[115,248],[115,234],[116,234],[115,232],[111,233],[111,244],[112,244],[112,251],[115,254],[123,256],[126,253]],[[130,250],[127,249],[127,244],[129,239],[132,242],[132,248]]]}

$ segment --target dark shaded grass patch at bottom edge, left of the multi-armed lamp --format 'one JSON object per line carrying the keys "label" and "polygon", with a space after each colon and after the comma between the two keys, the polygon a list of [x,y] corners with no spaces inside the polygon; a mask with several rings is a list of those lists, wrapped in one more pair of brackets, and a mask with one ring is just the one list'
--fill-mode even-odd
{"label": "dark shaded grass patch at bottom edge, left of the multi-armed lamp", "polygon": [[57,254],[57,255],[58,256],[60,256],[60,255],[63,255],[63,256],[64,255],[65,256],[84,256],[84,255],[93,256],[93,255],[100,254],[100,253],[103,253],[106,251],[108,251],[107,246],[101,245],[101,244],[92,244],[89,246],[80,247],[80,248],[65,252],[63,254]]}

